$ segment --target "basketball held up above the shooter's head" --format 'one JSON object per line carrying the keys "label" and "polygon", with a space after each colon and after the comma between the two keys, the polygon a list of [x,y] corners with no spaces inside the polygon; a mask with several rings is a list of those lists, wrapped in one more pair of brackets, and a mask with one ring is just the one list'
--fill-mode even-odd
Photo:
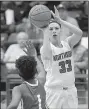
{"label": "basketball held up above the shooter's head", "polygon": [[45,5],[35,5],[29,12],[30,21],[33,25],[43,28],[51,19],[51,12]]}

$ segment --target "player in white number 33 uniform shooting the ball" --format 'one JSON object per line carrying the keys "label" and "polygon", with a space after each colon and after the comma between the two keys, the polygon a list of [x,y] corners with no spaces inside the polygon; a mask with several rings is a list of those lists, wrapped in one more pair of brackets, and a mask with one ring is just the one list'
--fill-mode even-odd
{"label": "player in white number 33 uniform shooting the ball", "polygon": [[[63,21],[56,7],[54,20],[45,28],[43,46],[40,49],[41,59],[45,68],[46,102],[49,109],[77,109],[78,98],[75,87],[74,60],[72,48],[79,42],[82,31]],[[60,40],[61,25],[73,33],[64,41]]]}

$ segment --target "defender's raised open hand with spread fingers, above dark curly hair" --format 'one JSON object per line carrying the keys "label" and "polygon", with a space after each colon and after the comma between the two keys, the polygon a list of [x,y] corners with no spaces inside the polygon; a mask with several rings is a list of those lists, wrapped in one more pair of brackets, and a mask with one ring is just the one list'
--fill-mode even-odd
{"label": "defender's raised open hand with spread fingers, above dark curly hair", "polygon": [[28,55],[28,56],[35,56],[37,57],[37,52],[36,49],[33,45],[33,43],[29,40],[26,42],[23,42],[25,49],[23,49],[23,51]]}

